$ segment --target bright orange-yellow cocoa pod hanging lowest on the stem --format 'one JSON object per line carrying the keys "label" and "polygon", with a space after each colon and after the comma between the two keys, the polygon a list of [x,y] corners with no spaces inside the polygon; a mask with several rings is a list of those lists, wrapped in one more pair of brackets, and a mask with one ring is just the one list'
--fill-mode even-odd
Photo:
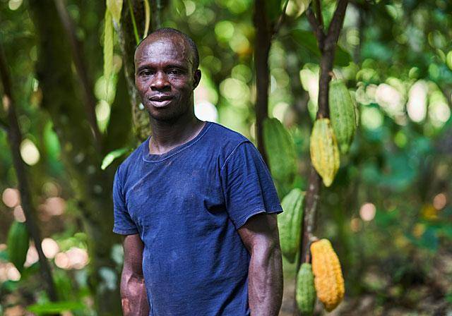
{"label": "bright orange-yellow cocoa pod hanging lowest on the stem", "polygon": [[338,255],[328,239],[311,244],[312,272],[317,297],[328,312],[334,310],[345,294],[344,278]]}

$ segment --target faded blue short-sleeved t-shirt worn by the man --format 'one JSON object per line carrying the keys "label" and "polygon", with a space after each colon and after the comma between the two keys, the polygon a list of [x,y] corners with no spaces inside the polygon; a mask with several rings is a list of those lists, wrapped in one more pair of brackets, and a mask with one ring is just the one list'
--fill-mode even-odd
{"label": "faded blue short-sleeved t-shirt worn by the man", "polygon": [[165,154],[149,154],[149,139],[117,170],[113,231],[143,240],[150,315],[249,315],[250,255],[237,229],[282,212],[261,154],[211,122]]}

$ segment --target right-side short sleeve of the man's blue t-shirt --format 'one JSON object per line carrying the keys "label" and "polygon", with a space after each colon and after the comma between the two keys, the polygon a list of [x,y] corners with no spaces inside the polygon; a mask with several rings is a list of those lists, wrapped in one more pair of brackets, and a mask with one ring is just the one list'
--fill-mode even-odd
{"label": "right-side short sleeve of the man's blue t-shirt", "polygon": [[220,175],[227,212],[236,229],[254,214],[283,212],[270,171],[251,142],[233,150]]}

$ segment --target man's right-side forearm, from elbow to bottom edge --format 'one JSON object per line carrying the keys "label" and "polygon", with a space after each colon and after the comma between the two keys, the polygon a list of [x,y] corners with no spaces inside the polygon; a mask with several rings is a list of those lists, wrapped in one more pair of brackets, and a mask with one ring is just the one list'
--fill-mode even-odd
{"label": "man's right-side forearm, from elbow to bottom edge", "polygon": [[283,262],[279,245],[254,249],[248,273],[251,316],[277,316],[283,301]]}

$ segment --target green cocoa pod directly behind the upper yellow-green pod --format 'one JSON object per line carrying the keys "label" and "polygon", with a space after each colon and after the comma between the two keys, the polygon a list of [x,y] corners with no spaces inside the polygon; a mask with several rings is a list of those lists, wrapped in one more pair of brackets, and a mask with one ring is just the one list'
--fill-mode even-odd
{"label": "green cocoa pod directly behind the upper yellow-green pod", "polygon": [[329,92],[330,120],[338,140],[340,152],[350,149],[356,129],[355,104],[342,80],[333,80]]}

